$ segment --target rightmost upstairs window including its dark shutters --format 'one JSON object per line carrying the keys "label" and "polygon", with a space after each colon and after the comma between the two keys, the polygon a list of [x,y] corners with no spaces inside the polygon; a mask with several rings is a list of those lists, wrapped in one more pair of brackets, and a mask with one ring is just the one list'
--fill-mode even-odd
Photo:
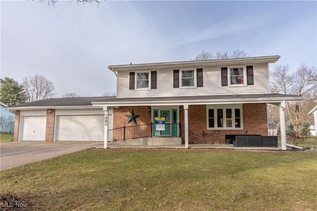
{"label": "rightmost upstairs window including its dark shutters", "polygon": [[237,66],[221,68],[221,85],[253,85],[253,66]]}

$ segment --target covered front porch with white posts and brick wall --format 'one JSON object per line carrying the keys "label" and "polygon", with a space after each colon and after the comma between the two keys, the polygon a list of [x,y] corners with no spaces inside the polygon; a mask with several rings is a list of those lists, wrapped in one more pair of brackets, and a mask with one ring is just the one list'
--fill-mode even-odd
{"label": "covered front porch with white posts and brick wall", "polygon": [[[93,106],[103,107],[105,111],[105,137],[104,148],[112,148],[116,145],[113,138],[109,139],[108,117],[112,115],[116,126],[121,124],[125,127],[126,117],[133,120],[133,116],[142,117],[143,124],[154,124],[156,117],[166,117],[168,125],[164,130],[156,130],[151,127],[151,136],[178,136],[181,143],[178,147],[199,147],[202,144],[204,133],[212,133],[219,130],[221,133],[220,143],[225,143],[227,134],[258,134],[267,135],[267,112],[266,104],[279,106],[281,127],[281,150],[286,150],[286,132],[284,109],[287,101],[301,101],[302,96],[285,94],[247,94],[247,95],[208,95],[208,96],[186,96],[186,97],[143,97],[143,98],[112,98],[107,102],[92,102]],[[134,111],[134,112],[133,112]],[[127,115],[130,112],[130,115]],[[132,114],[134,113],[134,114]],[[231,116],[230,116],[231,115]],[[131,122],[131,121],[130,121]],[[134,126],[141,123],[133,124]],[[109,128],[108,128],[109,126]],[[190,132],[199,134],[197,144],[191,145]],[[204,136],[205,141],[205,136]],[[206,142],[205,142],[206,143]],[[216,142],[217,143],[217,142]],[[215,143],[215,144],[216,144]],[[153,144],[152,144],[153,145]],[[132,145],[139,148],[137,145]],[[131,147],[132,147],[131,146]],[[155,147],[158,147],[157,144]],[[163,145],[164,146],[164,145]],[[202,145],[207,147],[208,145]],[[144,145],[151,148],[151,145]],[[228,147],[230,145],[210,144],[211,148]],[[232,148],[232,147],[231,147]],[[237,147],[238,148],[238,147]],[[239,147],[239,149],[242,149]],[[248,149],[251,149],[250,147]],[[264,147],[261,148],[264,150]]]}

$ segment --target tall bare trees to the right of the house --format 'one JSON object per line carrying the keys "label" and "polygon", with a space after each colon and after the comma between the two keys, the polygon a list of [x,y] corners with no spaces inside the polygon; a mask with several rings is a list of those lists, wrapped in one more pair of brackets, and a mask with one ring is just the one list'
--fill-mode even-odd
{"label": "tall bare trees to the right of the house", "polygon": [[[289,70],[289,65],[274,67],[270,73],[271,92],[304,96],[303,102],[287,103],[286,107],[286,121],[298,127],[305,121],[313,121],[308,112],[316,105],[317,70],[315,66],[307,67],[305,63],[302,63],[294,73],[290,73]],[[270,108],[273,119],[278,118],[278,112],[275,110],[273,107]]]}

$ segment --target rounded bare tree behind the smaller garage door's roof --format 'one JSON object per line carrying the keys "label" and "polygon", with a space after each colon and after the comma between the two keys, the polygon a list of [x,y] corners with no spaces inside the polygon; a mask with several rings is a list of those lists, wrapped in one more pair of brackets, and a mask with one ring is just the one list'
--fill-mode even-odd
{"label": "rounded bare tree behind the smaller garage door's roof", "polygon": [[26,92],[28,102],[48,99],[55,95],[53,82],[38,74],[24,77],[22,86]]}

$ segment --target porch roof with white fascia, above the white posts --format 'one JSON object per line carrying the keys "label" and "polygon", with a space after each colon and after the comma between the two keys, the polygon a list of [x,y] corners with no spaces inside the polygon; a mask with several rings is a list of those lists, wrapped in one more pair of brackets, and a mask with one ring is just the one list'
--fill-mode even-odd
{"label": "porch roof with white fascia, above the white posts", "polygon": [[110,98],[106,101],[93,101],[93,106],[142,106],[142,105],[202,105],[202,104],[237,104],[237,103],[271,103],[278,105],[281,101],[302,101],[303,96],[289,94],[235,94],[176,97],[137,97]]}

